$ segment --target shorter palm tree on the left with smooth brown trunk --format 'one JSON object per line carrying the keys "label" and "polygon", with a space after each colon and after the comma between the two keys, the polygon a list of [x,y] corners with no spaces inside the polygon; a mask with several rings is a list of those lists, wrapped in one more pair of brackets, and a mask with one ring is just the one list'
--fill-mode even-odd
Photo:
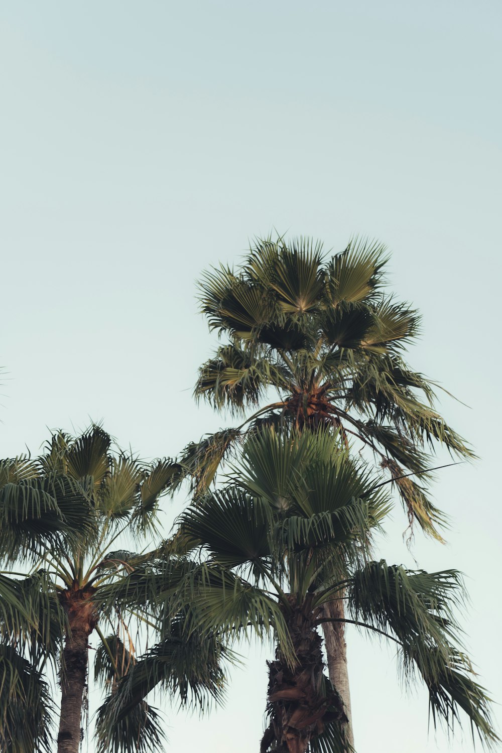
{"label": "shorter palm tree on the left with smooth brown trunk", "polygon": [[[124,576],[141,562],[141,556],[119,550],[117,543],[123,535],[139,542],[155,532],[160,495],[172,483],[178,466],[169,460],[147,465],[120,450],[113,453],[110,436],[94,425],[79,437],[58,431],[40,457],[4,461],[2,468],[8,468],[10,475],[0,491],[0,511],[11,517],[14,529],[19,523],[17,512],[22,511],[21,528],[28,533],[16,547],[2,531],[0,551],[10,562],[26,553],[35,561],[27,578],[0,581],[2,596],[11,588],[10,607],[2,613],[0,657],[10,681],[10,690],[6,692],[8,686],[2,684],[0,696],[5,750],[28,753],[37,746],[50,749],[53,701],[44,671],[52,665],[61,687],[57,750],[77,753],[91,633],[99,637],[96,678],[113,697],[114,686],[136,663],[132,625],[138,623],[136,634],[141,638],[141,624],[151,623],[145,601],[138,600],[134,614],[115,604],[114,589],[120,589]],[[33,514],[35,502],[38,508]],[[52,513],[52,520],[47,520],[47,514],[43,521],[37,517],[41,507]],[[26,511],[32,514],[31,521],[26,520]],[[59,535],[61,519],[66,526],[64,539]],[[47,524],[49,537],[41,530],[42,523]],[[151,627],[157,625],[151,623]],[[172,633],[165,624],[164,643],[173,639]],[[165,678],[173,691],[191,683],[201,697],[218,697],[223,677],[218,646],[214,646],[208,666],[196,644],[196,636],[191,645],[182,644],[177,662],[164,657]],[[177,671],[181,675],[176,675]],[[32,715],[29,733],[20,723],[25,718],[26,700]],[[106,703],[111,703],[111,698]],[[106,730],[102,725],[99,736],[103,751],[111,745],[116,751],[154,749],[161,739],[157,714],[147,703],[138,706],[120,729]]]}

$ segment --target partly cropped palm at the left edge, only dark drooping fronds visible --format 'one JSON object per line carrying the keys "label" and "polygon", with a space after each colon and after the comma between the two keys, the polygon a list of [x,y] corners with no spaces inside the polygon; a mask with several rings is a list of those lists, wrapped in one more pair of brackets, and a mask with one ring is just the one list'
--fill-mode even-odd
{"label": "partly cropped palm at the left edge, only dark drooping fronds visible", "polygon": [[[56,652],[58,617],[44,571],[11,568],[47,548],[62,552],[85,530],[89,505],[69,478],[41,478],[25,456],[0,462],[0,749],[50,753],[52,701],[39,667]],[[59,614],[58,614],[59,611]],[[60,621],[60,619],[59,619]]]}

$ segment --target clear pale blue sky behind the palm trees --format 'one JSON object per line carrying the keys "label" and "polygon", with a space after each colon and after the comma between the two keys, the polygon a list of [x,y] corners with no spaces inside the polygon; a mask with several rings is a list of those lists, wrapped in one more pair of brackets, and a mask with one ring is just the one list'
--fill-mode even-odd
{"label": "clear pale blue sky behind the palm trees", "polygon": [[[441,401],[480,457],[440,471],[446,546],[417,533],[410,553],[396,508],[377,554],[467,574],[467,645],[499,702],[501,29],[483,0],[0,9],[0,456],[90,419],[174,456],[226,420],[191,396],[214,348],[202,270],[274,228],[333,252],[376,237],[424,315],[409,362],[469,405]],[[166,750],[256,753],[268,655],[250,649],[210,718],[166,706]],[[427,736],[393,655],[348,630],[358,753],[472,750],[467,725]]]}

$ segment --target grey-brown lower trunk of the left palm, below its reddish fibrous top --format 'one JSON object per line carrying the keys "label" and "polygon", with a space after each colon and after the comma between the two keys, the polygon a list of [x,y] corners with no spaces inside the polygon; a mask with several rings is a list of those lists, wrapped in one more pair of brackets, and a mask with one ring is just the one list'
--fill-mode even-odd
{"label": "grey-brown lower trunk of the left palm, below its reddish fibrous top", "polygon": [[61,717],[57,753],[78,753],[81,744],[81,714],[87,679],[89,634],[73,629],[66,638],[61,676]]}

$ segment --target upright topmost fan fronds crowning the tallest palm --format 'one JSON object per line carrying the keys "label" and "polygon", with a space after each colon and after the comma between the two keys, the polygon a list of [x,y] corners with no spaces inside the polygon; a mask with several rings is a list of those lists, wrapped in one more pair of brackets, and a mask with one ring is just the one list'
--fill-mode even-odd
{"label": "upright topmost fan fronds crowning the tallest palm", "polygon": [[289,245],[282,237],[255,239],[238,270],[221,265],[205,273],[199,285],[201,309],[211,329],[274,345],[266,327],[271,322],[305,325],[321,309],[342,301],[382,297],[386,261],[385,247],[377,242],[354,239],[344,252],[329,257],[321,242],[305,237]]}

